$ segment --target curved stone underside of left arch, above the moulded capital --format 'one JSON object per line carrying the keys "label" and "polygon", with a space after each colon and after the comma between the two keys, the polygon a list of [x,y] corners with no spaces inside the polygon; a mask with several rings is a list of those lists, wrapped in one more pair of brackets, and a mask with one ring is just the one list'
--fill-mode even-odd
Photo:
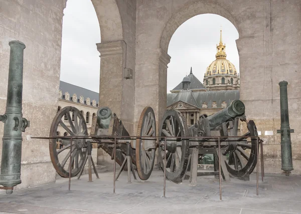
{"label": "curved stone underside of left arch, above the moulded capital", "polygon": [[116,0],[91,0],[100,28],[101,42],[122,40],[122,22]]}

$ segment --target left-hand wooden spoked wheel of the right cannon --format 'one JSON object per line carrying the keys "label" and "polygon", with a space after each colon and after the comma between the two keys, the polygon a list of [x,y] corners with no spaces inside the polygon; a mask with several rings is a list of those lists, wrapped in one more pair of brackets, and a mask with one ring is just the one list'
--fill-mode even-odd
{"label": "left-hand wooden spoked wheel of the right cannon", "polygon": [[[167,138],[166,148],[159,146],[159,159],[161,166],[165,167],[166,153],[166,177],[176,183],[182,182],[188,166],[189,141],[182,139],[188,137],[188,127],[185,117],[178,110],[168,110],[162,118],[159,136]],[[161,142],[164,143],[164,138]]]}

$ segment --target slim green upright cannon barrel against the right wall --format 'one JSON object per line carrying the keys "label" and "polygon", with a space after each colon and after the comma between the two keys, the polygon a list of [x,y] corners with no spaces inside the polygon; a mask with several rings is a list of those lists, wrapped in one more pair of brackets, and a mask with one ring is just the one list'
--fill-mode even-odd
{"label": "slim green upright cannon barrel against the right wall", "polygon": [[279,82],[280,86],[280,114],[281,126],[277,133],[281,134],[281,169],[289,175],[292,168],[290,133],[293,129],[289,127],[288,102],[287,102],[287,82]]}

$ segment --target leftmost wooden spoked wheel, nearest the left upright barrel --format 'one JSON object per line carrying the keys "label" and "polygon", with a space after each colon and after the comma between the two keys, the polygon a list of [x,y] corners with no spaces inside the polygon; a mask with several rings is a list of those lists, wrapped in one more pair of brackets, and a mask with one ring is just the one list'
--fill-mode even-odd
{"label": "leftmost wooden spoked wheel, nearest the left upright barrel", "polygon": [[[59,126],[63,127],[71,136],[85,136],[88,135],[87,124],[82,113],[72,106],[61,109],[51,124],[49,136],[57,137],[49,140],[51,162],[59,175],[69,177],[71,143],[70,139],[58,136]],[[60,147],[57,147],[57,140],[62,144]],[[86,155],[87,145],[85,139],[72,139],[71,177],[79,173]]]}

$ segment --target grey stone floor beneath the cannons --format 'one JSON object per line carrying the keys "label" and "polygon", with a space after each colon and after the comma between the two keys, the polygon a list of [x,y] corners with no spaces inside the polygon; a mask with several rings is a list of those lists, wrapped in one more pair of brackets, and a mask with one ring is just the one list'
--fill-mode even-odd
{"label": "grey stone floor beneath the cannons", "polygon": [[116,181],[113,193],[113,173],[100,174],[100,179],[87,182],[88,176],[56,183],[15,190],[6,195],[0,191],[0,213],[301,213],[301,176],[269,174],[259,181],[256,196],[255,174],[250,181],[232,178],[219,182],[214,177],[198,177],[198,184],[187,180],[181,184],[166,182],[163,197],[163,172],[154,170],[147,181],[127,183],[126,172]]}

